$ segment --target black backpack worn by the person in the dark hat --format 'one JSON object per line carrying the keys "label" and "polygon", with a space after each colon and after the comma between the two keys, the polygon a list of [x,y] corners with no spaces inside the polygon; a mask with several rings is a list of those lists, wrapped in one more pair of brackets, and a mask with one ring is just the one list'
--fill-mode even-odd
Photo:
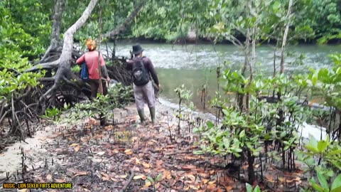
{"label": "black backpack worn by the person in the dark hat", "polygon": [[150,80],[148,70],[146,69],[142,59],[134,60],[131,75],[133,76],[134,84],[137,86],[146,85]]}

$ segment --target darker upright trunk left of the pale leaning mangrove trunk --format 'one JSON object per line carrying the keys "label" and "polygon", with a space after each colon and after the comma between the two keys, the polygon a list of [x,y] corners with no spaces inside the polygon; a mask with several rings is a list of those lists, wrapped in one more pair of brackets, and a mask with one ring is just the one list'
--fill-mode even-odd
{"label": "darker upright trunk left of the pale leaning mangrove trunk", "polygon": [[53,26],[51,31],[51,40],[50,46],[45,52],[45,55],[39,63],[45,62],[45,59],[48,58],[48,55],[51,50],[60,50],[61,42],[60,42],[60,28],[62,26],[62,16],[65,8],[65,0],[57,0],[55,3],[55,14],[53,15]]}

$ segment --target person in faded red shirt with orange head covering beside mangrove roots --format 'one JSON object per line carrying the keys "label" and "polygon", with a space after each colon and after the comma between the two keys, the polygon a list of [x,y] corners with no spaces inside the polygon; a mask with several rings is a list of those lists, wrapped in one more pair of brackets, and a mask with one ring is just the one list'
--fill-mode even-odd
{"label": "person in faded red shirt with orange head covering beside mangrove roots", "polygon": [[[104,58],[102,54],[96,50],[96,41],[92,39],[88,39],[85,43],[89,52],[83,54],[80,58],[77,59],[76,63],[81,64],[83,62],[87,63],[87,70],[89,71],[89,81],[88,83],[91,86],[91,99],[93,100],[97,97],[97,90],[99,88],[99,63],[101,63],[101,72],[102,77],[107,78],[107,81],[110,81],[107,68],[105,66]],[[105,81],[102,82],[103,87],[103,95],[107,95],[107,86]]]}

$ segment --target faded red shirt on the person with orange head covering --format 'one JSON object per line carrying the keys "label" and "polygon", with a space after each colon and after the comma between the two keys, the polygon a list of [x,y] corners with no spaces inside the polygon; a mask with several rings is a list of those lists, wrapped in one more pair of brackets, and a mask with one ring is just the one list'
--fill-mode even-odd
{"label": "faded red shirt on the person with orange head covering", "polygon": [[[101,66],[105,65],[103,55],[100,54],[99,56]],[[89,70],[89,78],[91,80],[99,80],[99,67],[98,67],[98,51],[92,50],[85,54],[83,54],[80,58],[77,59],[76,63],[80,64],[87,63],[87,70]]]}

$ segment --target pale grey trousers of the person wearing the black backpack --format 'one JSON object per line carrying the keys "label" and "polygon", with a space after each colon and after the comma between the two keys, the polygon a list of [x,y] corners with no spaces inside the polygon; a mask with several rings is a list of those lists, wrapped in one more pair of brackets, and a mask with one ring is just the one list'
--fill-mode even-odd
{"label": "pale grey trousers of the person wearing the black backpack", "polygon": [[144,109],[145,102],[149,108],[155,107],[154,88],[151,81],[142,86],[134,85],[134,96],[138,111]]}

